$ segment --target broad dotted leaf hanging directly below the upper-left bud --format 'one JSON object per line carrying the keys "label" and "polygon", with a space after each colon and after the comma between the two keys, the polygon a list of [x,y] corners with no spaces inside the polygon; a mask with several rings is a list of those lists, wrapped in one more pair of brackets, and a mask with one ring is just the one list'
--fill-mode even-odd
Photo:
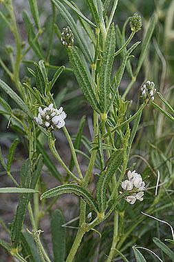
{"label": "broad dotted leaf hanging directly below the upper-left bud", "polygon": [[83,94],[90,103],[91,107],[96,110],[96,112],[100,113],[100,106],[96,100],[94,90],[91,87],[91,79],[89,79],[87,70],[85,69],[85,64],[83,63],[82,59],[80,59],[76,48],[68,48],[67,52],[72,70],[78,81],[78,85],[80,85],[80,88],[83,90]]}

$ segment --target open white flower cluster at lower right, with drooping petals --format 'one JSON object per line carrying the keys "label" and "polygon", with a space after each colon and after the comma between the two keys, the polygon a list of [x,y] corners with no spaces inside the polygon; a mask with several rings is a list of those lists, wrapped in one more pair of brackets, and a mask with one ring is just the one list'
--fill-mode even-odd
{"label": "open white flower cluster at lower right, with drooping petals", "polygon": [[126,196],[126,201],[133,205],[136,200],[143,201],[145,183],[142,181],[142,176],[134,171],[128,171],[127,177],[129,180],[122,182],[122,189],[125,191],[133,191],[133,194]]}

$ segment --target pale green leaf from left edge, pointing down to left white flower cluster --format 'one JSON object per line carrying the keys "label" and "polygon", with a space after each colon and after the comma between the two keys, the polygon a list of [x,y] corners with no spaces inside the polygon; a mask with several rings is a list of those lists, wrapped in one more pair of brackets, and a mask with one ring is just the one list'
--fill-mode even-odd
{"label": "pale green leaf from left edge, pointing down to left white flower cluster", "polygon": [[19,95],[17,93],[15,93],[12,88],[10,88],[10,86],[8,86],[5,82],[3,82],[0,79],[0,87],[9,95],[9,97],[11,97],[19,106],[20,108],[26,113],[28,114],[29,117],[33,118],[32,113],[30,112],[30,110],[28,109],[27,105],[25,105],[25,103],[23,102],[23,100],[21,99],[21,97],[19,97]]}

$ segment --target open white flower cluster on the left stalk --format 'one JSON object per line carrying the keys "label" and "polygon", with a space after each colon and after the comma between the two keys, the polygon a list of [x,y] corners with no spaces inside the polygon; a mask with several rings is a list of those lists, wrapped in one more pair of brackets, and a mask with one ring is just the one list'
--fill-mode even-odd
{"label": "open white flower cluster on the left stalk", "polygon": [[63,128],[65,125],[64,119],[67,117],[67,114],[63,111],[63,108],[59,108],[58,110],[53,107],[53,103],[47,108],[42,109],[39,107],[39,114],[35,117],[35,121],[38,125],[43,126],[43,128],[47,128],[47,130],[54,130]]}

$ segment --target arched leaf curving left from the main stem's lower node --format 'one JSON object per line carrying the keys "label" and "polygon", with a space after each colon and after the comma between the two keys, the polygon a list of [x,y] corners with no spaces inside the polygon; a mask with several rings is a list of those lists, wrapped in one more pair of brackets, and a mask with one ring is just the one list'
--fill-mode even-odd
{"label": "arched leaf curving left from the main stem's lower node", "polygon": [[52,188],[50,190],[47,190],[41,195],[42,199],[48,199],[53,196],[60,196],[61,194],[76,194],[77,196],[80,196],[83,198],[83,200],[88,203],[88,205],[95,211],[98,212],[98,206],[96,204],[96,201],[94,200],[93,196],[85,190],[85,188],[82,188],[80,185],[59,185],[56,188]]}

